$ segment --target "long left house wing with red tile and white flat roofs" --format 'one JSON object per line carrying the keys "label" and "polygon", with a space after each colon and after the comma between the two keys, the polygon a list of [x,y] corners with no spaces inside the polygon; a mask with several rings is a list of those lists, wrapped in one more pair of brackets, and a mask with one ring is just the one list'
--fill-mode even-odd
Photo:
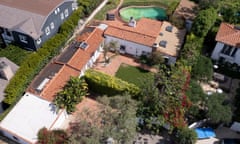
{"label": "long left house wing with red tile and white flat roofs", "polygon": [[35,77],[26,94],[1,121],[0,132],[18,143],[32,144],[37,142],[39,129],[62,128],[68,115],[65,110],[57,111],[53,101],[71,76],[81,77],[93,66],[103,42],[103,29],[85,28]]}

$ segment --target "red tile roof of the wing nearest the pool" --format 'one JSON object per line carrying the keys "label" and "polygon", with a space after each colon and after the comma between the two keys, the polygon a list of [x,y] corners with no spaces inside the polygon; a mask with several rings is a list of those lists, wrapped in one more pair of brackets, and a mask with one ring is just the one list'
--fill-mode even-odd
{"label": "red tile roof of the wing nearest the pool", "polygon": [[136,27],[130,27],[127,23],[119,21],[105,21],[108,25],[104,35],[117,37],[131,42],[152,46],[161,31],[162,22],[142,18]]}

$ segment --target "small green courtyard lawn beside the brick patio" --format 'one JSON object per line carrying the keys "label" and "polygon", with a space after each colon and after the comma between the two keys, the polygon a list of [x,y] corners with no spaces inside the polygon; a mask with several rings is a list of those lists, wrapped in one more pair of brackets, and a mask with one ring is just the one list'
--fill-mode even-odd
{"label": "small green courtyard lawn beside the brick patio", "polygon": [[122,64],[115,76],[140,87],[142,84],[141,79],[149,77],[153,78],[153,73],[143,70],[139,67]]}

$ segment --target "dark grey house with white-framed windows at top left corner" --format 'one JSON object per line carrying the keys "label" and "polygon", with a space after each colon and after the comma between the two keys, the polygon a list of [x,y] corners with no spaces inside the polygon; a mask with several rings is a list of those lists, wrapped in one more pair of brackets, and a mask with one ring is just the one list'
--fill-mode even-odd
{"label": "dark grey house with white-framed windows at top left corner", "polygon": [[76,0],[0,0],[0,36],[37,50],[76,9]]}

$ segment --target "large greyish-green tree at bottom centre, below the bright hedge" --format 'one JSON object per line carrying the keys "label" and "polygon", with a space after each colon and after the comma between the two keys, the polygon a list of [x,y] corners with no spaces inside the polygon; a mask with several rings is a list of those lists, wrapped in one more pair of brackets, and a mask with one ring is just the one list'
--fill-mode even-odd
{"label": "large greyish-green tree at bottom centre, below the bright hedge", "polygon": [[98,144],[113,138],[117,144],[131,143],[136,136],[136,101],[128,94],[98,97],[97,112],[85,110],[71,128],[70,143]]}

